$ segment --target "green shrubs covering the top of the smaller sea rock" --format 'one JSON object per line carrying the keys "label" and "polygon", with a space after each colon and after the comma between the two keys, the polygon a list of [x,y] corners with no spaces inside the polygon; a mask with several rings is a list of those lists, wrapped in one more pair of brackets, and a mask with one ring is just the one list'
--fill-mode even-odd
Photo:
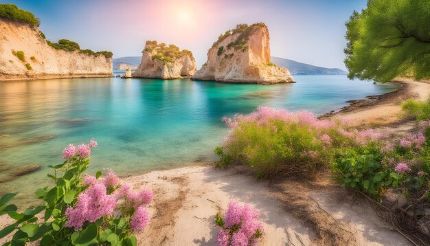
{"label": "green shrubs covering the top of the smaller sea rock", "polygon": [[166,45],[166,43],[158,43],[157,41],[146,41],[145,49],[146,52],[152,52],[155,50],[156,54],[152,55],[152,59],[161,60],[164,65],[172,63],[176,58],[183,56],[192,56],[192,52],[188,49],[179,49],[176,45]]}

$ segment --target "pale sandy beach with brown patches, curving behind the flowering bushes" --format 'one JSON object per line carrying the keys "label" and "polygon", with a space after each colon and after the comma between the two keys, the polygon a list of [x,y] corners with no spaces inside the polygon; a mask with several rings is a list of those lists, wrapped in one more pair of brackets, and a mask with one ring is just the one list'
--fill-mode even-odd
{"label": "pale sandy beach with brown patches, curving behind the flowering bushes", "polygon": [[[400,82],[400,81],[399,81]],[[400,102],[427,100],[430,82],[402,80],[402,88],[353,102],[321,118],[349,118],[358,126],[408,131],[414,122],[398,117]],[[262,245],[409,245],[378,219],[372,205],[330,181],[259,181],[245,167],[220,170],[207,164],[124,177],[133,188],[151,188],[151,221],[137,234],[138,245],[216,245],[217,212],[231,199],[250,203],[264,221]],[[10,222],[0,216],[0,228]],[[4,243],[5,239],[0,239]]]}

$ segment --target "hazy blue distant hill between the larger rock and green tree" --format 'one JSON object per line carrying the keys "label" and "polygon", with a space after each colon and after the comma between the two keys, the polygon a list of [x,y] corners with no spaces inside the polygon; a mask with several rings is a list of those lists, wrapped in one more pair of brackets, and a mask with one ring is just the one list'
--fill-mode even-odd
{"label": "hazy blue distant hill between the larger rock and green tree", "polygon": [[295,60],[288,60],[274,56],[271,57],[271,61],[272,63],[275,63],[275,65],[286,67],[291,74],[348,74],[346,71],[338,68],[317,67],[306,63],[298,63]]}

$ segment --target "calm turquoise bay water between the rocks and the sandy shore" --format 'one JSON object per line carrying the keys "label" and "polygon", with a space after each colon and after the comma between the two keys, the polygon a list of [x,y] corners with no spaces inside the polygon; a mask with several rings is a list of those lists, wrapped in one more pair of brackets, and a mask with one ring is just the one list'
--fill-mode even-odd
{"label": "calm turquoise bay water between the rocks and the sandy shore", "polygon": [[[30,175],[0,183],[0,194],[46,183],[47,165],[59,164],[67,144],[94,138],[91,172],[121,175],[210,162],[228,129],[221,118],[259,105],[327,113],[394,84],[346,76],[294,76],[297,83],[238,85],[158,79],[87,78],[0,83],[0,168],[41,165]],[[12,169],[13,170],[13,169]],[[11,170],[1,172],[7,180]]]}

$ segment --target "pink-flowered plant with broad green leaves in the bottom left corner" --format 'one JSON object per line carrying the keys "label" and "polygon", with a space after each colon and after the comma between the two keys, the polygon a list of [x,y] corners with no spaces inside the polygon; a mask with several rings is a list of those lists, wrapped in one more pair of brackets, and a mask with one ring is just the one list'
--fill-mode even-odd
{"label": "pink-flowered plant with broad green leaves in the bottom left corner", "polygon": [[[25,245],[40,240],[40,245],[136,245],[133,232],[139,232],[149,221],[146,205],[152,201],[152,191],[134,192],[112,170],[102,177],[84,175],[89,166],[91,148],[70,144],[63,151],[63,164],[49,166],[48,174],[55,186],[36,190],[36,197],[45,205],[16,212],[16,205],[7,205],[16,193],[0,199],[0,214],[8,214],[16,222],[0,231],[0,238],[14,232],[8,244]],[[45,212],[43,222],[37,214]]]}

